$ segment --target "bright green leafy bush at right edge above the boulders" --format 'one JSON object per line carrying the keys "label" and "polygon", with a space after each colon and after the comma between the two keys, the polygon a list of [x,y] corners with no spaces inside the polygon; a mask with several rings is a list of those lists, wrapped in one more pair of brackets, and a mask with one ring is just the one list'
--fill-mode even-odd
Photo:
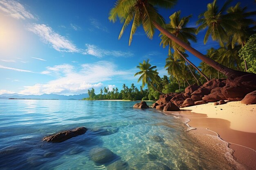
{"label": "bright green leafy bush at right edge above the boulders", "polygon": [[[240,49],[239,56],[245,59],[248,66],[249,73],[256,73],[256,34],[249,37],[245,46]],[[245,67],[244,63],[242,64]]]}

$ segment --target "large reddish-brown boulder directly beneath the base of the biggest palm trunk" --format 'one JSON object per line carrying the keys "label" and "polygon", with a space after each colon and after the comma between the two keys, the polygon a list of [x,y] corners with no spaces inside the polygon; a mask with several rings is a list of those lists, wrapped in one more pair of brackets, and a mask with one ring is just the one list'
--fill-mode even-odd
{"label": "large reddish-brown boulder directly beneath the base of the biggest palm trunk", "polygon": [[222,95],[229,101],[240,101],[245,95],[252,92],[251,88],[224,86],[221,88]]}

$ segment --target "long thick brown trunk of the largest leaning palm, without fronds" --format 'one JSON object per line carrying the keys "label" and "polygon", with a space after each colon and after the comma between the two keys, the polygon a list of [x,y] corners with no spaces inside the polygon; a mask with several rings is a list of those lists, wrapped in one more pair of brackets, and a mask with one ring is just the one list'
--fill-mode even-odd
{"label": "long thick brown trunk of the largest leaning palm, without fronds", "polygon": [[222,64],[219,64],[218,62],[212,60],[209,57],[206,57],[205,55],[203,55],[202,53],[200,53],[199,51],[197,51],[196,49],[193,49],[190,45],[186,44],[185,42],[183,42],[182,40],[180,40],[179,38],[175,37],[173,34],[171,34],[169,31],[167,31],[166,29],[164,29],[162,26],[160,26],[157,22],[153,21],[154,26],[160,31],[162,32],[164,35],[166,35],[168,38],[170,38],[171,40],[173,40],[174,42],[176,42],[177,44],[179,44],[180,46],[182,46],[184,49],[186,49],[187,51],[189,51],[191,54],[195,55],[196,57],[198,57],[200,60],[202,60],[203,62],[209,64],[211,67],[215,68],[216,70],[220,71],[221,73],[225,74],[227,77],[234,79],[235,77],[241,76],[241,75],[245,75],[247,73],[243,72],[243,71],[236,71],[233,70],[231,68],[228,68],[226,66],[223,66]]}

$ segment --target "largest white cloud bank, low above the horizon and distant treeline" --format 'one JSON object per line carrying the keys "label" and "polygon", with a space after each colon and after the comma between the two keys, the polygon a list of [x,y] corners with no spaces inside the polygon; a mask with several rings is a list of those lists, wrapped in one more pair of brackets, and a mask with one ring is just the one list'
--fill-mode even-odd
{"label": "largest white cloud bank, low above the horizon and distant treeline", "polygon": [[[61,64],[53,67],[47,67],[42,74],[56,76],[56,79],[46,84],[35,84],[34,86],[24,86],[24,90],[20,94],[36,94],[43,93],[86,93],[88,89],[96,90],[103,87],[103,82],[111,80],[119,81],[121,77],[130,77],[134,73],[129,71],[121,71],[112,62],[100,61],[93,64],[83,64],[80,67],[74,67],[70,64]],[[112,90],[115,85],[110,85]]]}

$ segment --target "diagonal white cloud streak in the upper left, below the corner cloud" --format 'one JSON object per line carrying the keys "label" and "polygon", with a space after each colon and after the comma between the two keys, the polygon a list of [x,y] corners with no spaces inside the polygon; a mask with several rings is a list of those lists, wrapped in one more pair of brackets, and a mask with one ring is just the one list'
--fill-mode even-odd
{"label": "diagonal white cloud streak in the upper left, below the corner cloud", "polygon": [[57,51],[63,52],[79,52],[79,49],[62,35],[55,33],[51,27],[45,24],[29,24],[27,29],[36,35],[38,35],[43,42],[51,44],[52,47]]}

